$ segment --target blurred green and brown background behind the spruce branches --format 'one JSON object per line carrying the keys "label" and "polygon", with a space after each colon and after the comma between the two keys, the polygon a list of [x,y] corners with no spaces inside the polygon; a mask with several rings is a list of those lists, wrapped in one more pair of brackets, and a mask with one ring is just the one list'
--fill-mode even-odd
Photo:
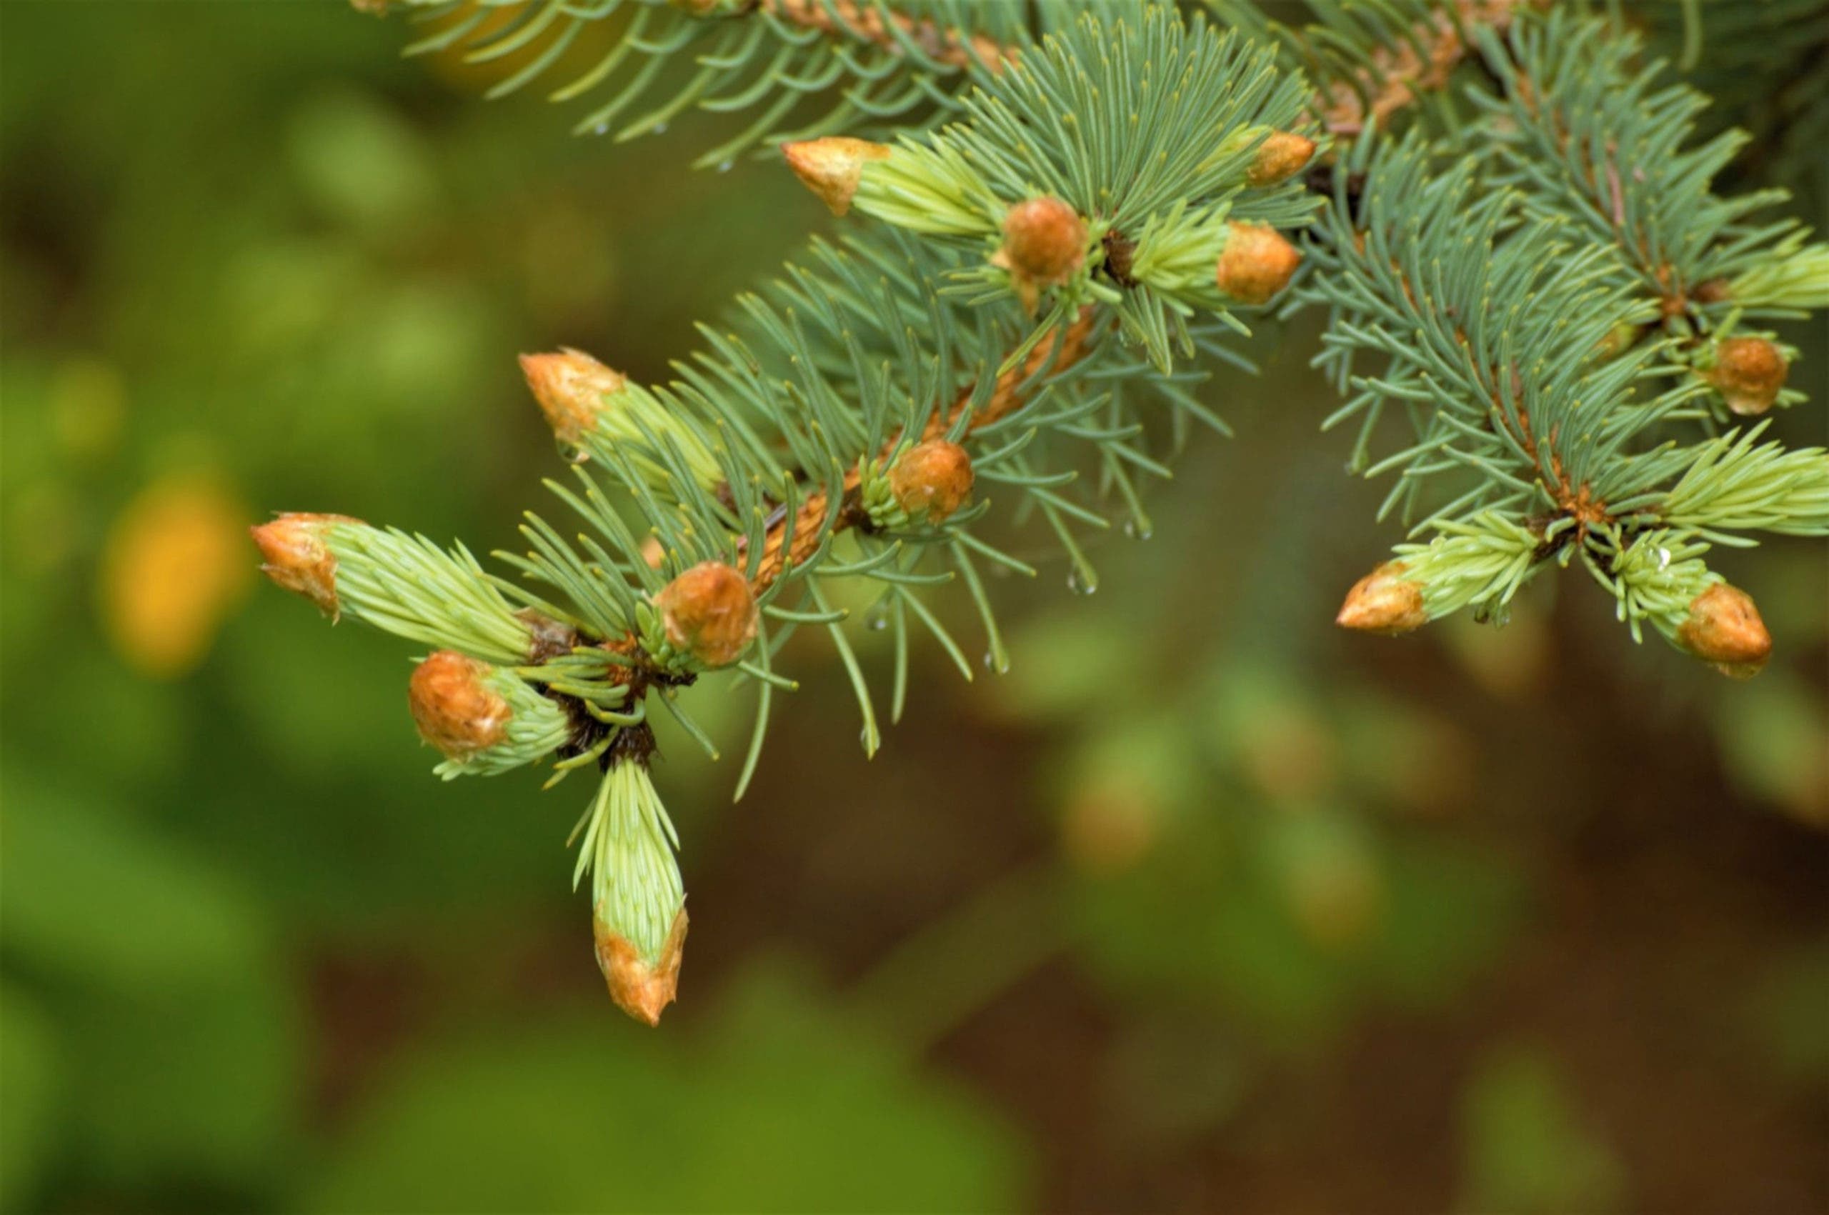
{"label": "blurred green and brown background behind the spruce branches", "polygon": [[441,787],[408,650],[245,527],[510,545],[556,467],[514,355],[664,377],[830,220],[688,172],[708,119],[574,139],[404,38],[0,4],[0,1206],[1829,1210],[1822,545],[1721,556],[1780,648],[1745,684],[1578,575],[1341,635],[1394,534],[1304,326],[1096,597],[997,587],[1010,675],[924,653],[867,763],[808,646],[741,805],[671,747],[680,1003],[616,1014],[578,787]]}

